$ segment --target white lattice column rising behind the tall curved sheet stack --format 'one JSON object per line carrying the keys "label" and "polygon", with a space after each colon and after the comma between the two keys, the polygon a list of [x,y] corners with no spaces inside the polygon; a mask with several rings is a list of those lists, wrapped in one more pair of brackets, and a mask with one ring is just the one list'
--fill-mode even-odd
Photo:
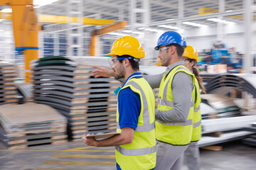
{"label": "white lattice column rising behind the tall curved sheet stack", "polygon": [[[82,56],[83,43],[83,1],[68,0],[68,56]],[[78,17],[78,22],[72,22]]]}

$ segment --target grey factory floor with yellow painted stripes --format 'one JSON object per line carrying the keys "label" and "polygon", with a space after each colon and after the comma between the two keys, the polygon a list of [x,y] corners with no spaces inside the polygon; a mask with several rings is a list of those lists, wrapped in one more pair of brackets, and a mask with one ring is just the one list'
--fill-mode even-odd
{"label": "grey factory floor with yellow painted stripes", "polygon": [[[256,168],[256,147],[240,141],[221,144],[222,151],[201,149],[202,170]],[[107,155],[107,156],[106,156]],[[115,169],[114,147],[88,147],[83,142],[41,145],[26,149],[0,149],[2,170]],[[187,170],[183,166],[183,170]]]}

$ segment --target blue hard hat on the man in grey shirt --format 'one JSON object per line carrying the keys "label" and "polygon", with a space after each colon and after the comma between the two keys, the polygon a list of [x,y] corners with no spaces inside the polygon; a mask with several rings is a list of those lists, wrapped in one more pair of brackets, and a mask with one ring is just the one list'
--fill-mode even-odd
{"label": "blue hard hat on the man in grey shirt", "polygon": [[170,45],[170,44],[178,44],[181,47],[186,47],[186,40],[177,32],[175,31],[167,31],[163,33],[157,42],[155,50],[159,50],[161,45]]}

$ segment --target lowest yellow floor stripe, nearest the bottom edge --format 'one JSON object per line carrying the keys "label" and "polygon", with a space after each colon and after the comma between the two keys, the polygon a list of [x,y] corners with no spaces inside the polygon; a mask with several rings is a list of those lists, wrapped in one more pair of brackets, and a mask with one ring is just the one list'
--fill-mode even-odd
{"label": "lowest yellow floor stripe, nearest the bottom edge", "polygon": [[115,162],[61,162],[46,161],[43,164],[65,164],[65,165],[96,165],[96,166],[115,166]]}

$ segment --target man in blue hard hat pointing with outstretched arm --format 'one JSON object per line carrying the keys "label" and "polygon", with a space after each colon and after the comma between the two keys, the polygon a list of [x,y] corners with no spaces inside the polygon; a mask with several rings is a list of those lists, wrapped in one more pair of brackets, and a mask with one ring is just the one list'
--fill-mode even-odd
{"label": "man in blue hard hat pointing with outstretched arm", "polygon": [[[159,50],[164,74],[144,76],[152,88],[159,87],[156,109],[156,169],[181,169],[182,155],[191,142],[195,89],[194,75],[184,67],[181,57],[186,41],[175,31],[162,34]],[[97,67],[95,77],[110,77],[110,70]]]}

